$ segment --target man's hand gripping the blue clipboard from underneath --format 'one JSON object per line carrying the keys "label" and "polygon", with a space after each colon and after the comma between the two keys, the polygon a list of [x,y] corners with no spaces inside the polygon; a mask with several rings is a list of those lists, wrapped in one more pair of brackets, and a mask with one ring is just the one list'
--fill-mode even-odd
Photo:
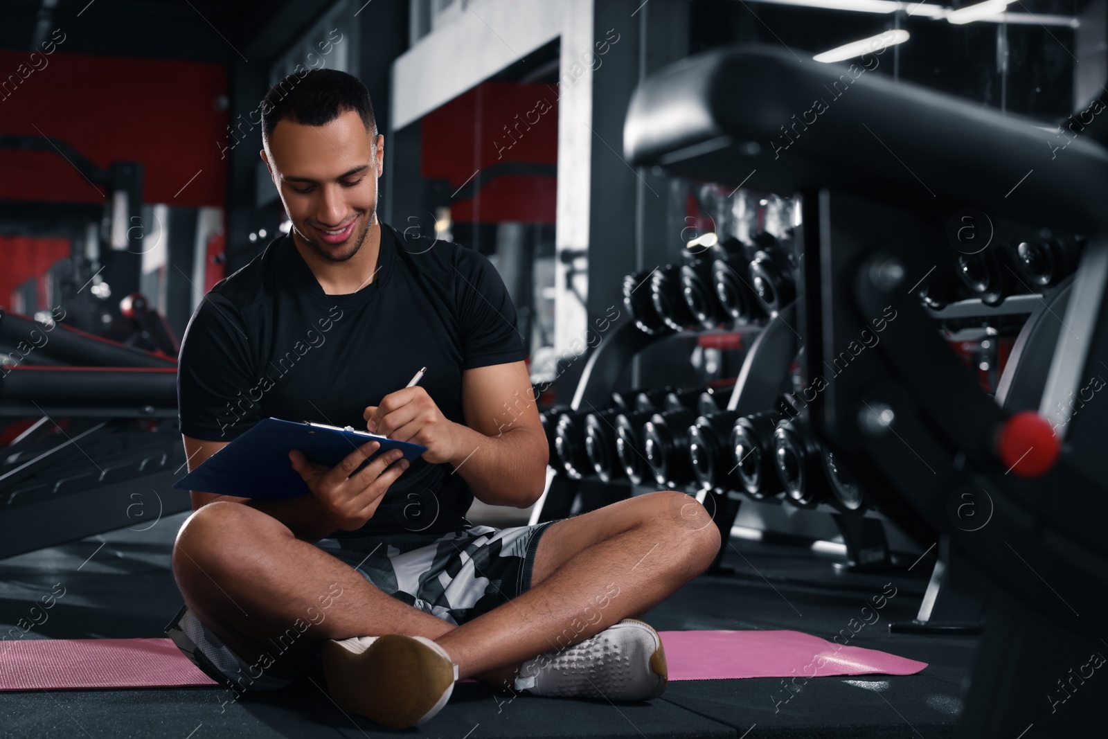
{"label": "man's hand gripping the blue clipboard from underneath", "polygon": [[378,447],[380,442],[368,441],[330,469],[309,461],[299,449],[289,451],[293,469],[308,483],[311,494],[320,502],[336,528],[361,528],[373,517],[389,485],[408,469],[408,460],[400,459],[402,452],[394,449],[380,454],[361,472],[348,478]]}

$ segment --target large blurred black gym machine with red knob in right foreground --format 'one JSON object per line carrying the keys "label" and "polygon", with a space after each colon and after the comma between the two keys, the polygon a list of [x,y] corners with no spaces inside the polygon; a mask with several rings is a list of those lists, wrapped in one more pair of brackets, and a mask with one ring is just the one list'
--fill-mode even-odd
{"label": "large blurred black gym machine with red knob in right foreground", "polygon": [[[1108,153],[1077,138],[1051,160],[1030,121],[858,69],[763,48],[684,60],[636,91],[625,155],[796,194],[800,419],[885,515],[938,545],[944,591],[986,603],[958,736],[1084,736],[1099,704],[1063,680],[1102,653],[1108,610],[1094,394],[1108,367]],[[974,310],[1047,307],[1020,329],[997,398],[936,327],[936,312],[967,315],[963,287]],[[828,381],[882,318],[881,341]]]}

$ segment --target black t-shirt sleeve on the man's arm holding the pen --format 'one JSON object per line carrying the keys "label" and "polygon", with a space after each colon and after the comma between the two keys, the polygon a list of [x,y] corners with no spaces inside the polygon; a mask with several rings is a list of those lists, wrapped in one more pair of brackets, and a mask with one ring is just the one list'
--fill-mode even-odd
{"label": "black t-shirt sleeve on the man's arm holding the pen", "polygon": [[459,247],[454,290],[462,333],[462,369],[527,358],[515,305],[500,273],[480,252]]}

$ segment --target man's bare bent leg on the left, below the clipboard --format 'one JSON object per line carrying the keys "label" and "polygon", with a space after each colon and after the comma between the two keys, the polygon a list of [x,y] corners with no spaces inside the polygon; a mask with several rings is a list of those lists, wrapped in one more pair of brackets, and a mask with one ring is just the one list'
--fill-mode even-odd
{"label": "man's bare bent leg on the left, below the clipboard", "polygon": [[353,567],[242,503],[216,501],[185,522],[173,574],[189,609],[235,654],[252,665],[263,654],[276,658],[266,669],[275,677],[298,675],[322,639],[438,638],[456,628],[382,593]]}

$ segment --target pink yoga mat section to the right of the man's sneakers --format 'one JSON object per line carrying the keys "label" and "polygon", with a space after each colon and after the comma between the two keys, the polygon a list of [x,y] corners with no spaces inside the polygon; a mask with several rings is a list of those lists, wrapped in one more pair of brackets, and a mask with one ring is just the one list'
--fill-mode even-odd
{"label": "pink yoga mat section to the right of the man's sneakers", "polygon": [[915,675],[926,663],[800,632],[659,632],[670,680]]}

